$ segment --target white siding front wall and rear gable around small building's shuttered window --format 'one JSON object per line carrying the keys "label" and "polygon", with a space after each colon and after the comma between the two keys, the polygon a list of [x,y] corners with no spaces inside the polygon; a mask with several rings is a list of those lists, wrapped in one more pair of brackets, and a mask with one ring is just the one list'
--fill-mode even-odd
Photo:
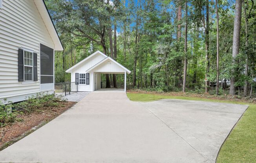
{"label": "white siding front wall and rear gable around small building's shuttered window", "polygon": [[[88,60],[86,60],[84,63],[77,65],[74,69],[72,69],[71,72],[71,82],[75,82],[75,73],[86,73],[86,70],[93,67],[95,64],[101,62],[104,60],[105,56],[101,55],[100,53],[95,54]],[[93,91],[92,89],[92,73],[90,72],[90,84],[89,85],[78,85],[78,91]],[[72,84],[73,85],[73,84]],[[77,87],[72,87],[72,91],[76,91]]]}

